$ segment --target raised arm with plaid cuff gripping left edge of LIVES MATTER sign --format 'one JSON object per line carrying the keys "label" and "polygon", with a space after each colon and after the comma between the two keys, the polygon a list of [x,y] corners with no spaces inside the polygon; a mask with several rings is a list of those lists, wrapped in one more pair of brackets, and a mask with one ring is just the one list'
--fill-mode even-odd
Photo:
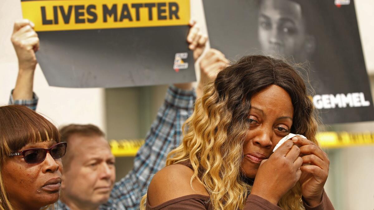
{"label": "raised arm with plaid cuff gripping left edge of LIVES MATTER sign", "polygon": [[38,98],[33,93],[33,83],[39,38],[34,24],[27,19],[16,21],[11,40],[18,58],[18,77],[9,104],[25,105],[35,110]]}

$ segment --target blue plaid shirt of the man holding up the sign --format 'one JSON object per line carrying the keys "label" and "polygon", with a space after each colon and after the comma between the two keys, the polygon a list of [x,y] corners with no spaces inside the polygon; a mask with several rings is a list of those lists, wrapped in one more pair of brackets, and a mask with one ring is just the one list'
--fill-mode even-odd
{"label": "blue plaid shirt of the man holding up the sign", "polygon": [[[36,95],[33,100],[12,101],[35,110]],[[194,90],[181,90],[170,86],[165,101],[160,107],[156,120],[148,132],[144,145],[141,146],[134,160],[134,168],[114,184],[107,203],[100,210],[135,210],[139,209],[140,200],[147,193],[153,175],[165,166],[166,156],[177,147],[182,138],[182,125],[192,114],[196,95]],[[70,210],[58,201],[56,210]]]}

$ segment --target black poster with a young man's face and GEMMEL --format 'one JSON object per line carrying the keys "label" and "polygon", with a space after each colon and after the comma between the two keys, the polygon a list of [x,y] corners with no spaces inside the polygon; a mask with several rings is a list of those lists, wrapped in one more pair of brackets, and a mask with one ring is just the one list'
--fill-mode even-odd
{"label": "black poster with a young man's face and GEMMEL", "polygon": [[353,0],[204,0],[211,46],[227,58],[286,59],[325,124],[374,120]]}

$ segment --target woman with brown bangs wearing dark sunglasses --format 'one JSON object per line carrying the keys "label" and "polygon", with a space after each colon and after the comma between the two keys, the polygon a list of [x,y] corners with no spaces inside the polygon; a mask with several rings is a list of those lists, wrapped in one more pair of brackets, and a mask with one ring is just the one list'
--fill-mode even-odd
{"label": "woman with brown bangs wearing dark sunglasses", "polygon": [[0,209],[39,210],[55,203],[62,182],[56,127],[25,106],[0,106]]}

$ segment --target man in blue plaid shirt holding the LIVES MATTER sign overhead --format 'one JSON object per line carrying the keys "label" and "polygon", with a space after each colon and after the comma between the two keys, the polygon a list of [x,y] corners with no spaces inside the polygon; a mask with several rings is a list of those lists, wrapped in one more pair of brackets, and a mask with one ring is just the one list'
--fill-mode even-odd
{"label": "man in blue plaid shirt holding the LIVES MATTER sign overhead", "polygon": [[[15,24],[12,42],[20,69],[16,87],[10,95],[10,104],[28,105],[35,109],[38,99],[32,90],[36,66],[34,50],[39,42],[35,43],[34,38],[28,40],[30,37],[19,33],[22,28],[22,31],[31,32],[32,24],[27,21]],[[196,61],[205,47],[206,37],[199,34],[197,27],[192,27],[187,41],[190,49],[194,50]],[[213,80],[227,62],[217,50],[211,49],[206,53],[200,62],[202,74],[197,95],[202,95],[204,84]],[[68,142],[68,147],[62,159],[65,170],[61,198],[55,209],[138,209],[141,196],[147,192],[152,176],[165,166],[166,155],[181,142],[182,124],[192,114],[195,99],[196,93],[191,83],[169,87],[165,101],[145,138],[145,144],[135,157],[134,168],[116,183],[114,156],[104,133],[92,125],[71,124],[62,127],[62,139]]]}

